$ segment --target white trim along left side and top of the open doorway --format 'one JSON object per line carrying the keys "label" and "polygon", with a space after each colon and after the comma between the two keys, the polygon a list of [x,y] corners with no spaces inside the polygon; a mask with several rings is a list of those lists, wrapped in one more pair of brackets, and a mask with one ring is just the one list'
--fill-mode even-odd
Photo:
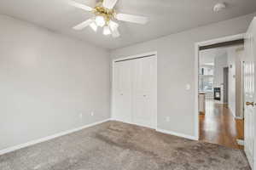
{"label": "white trim along left side and top of the open doorway", "polygon": [[198,108],[198,83],[199,83],[199,48],[201,46],[207,46],[212,45],[214,43],[220,43],[220,42],[230,42],[234,40],[239,40],[241,38],[245,37],[245,33],[236,34],[232,36],[226,36],[226,37],[218,37],[215,39],[210,39],[207,41],[202,42],[195,42],[195,138],[199,140],[200,135],[200,129],[199,129],[199,108]]}

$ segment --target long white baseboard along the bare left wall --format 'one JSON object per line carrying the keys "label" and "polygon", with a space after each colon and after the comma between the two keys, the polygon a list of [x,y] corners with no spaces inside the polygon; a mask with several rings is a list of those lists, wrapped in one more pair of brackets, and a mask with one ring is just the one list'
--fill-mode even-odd
{"label": "long white baseboard along the bare left wall", "polygon": [[90,123],[88,125],[84,125],[83,127],[73,128],[71,130],[67,130],[67,131],[64,131],[64,132],[61,132],[61,133],[56,133],[56,134],[44,137],[42,139],[35,139],[35,140],[32,140],[32,141],[26,142],[25,144],[18,144],[18,145],[6,148],[4,150],[0,150],[0,156],[3,155],[3,154],[9,153],[9,152],[15,151],[15,150],[19,150],[21,148],[25,148],[25,147],[33,145],[33,144],[38,144],[38,143],[41,143],[41,142],[44,142],[44,141],[47,141],[47,140],[50,140],[50,139],[55,139],[57,137],[61,137],[61,136],[66,135],[68,133],[74,133],[74,132],[77,132],[77,131],[82,130],[84,128],[87,128],[87,127],[93,127],[97,124],[101,124],[102,122],[108,122],[110,120],[111,119],[106,119],[106,120],[103,120],[103,121]]}

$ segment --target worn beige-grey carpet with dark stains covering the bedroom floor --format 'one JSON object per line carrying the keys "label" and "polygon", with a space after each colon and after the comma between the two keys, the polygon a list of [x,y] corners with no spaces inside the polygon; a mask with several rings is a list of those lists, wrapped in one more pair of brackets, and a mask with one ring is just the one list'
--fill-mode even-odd
{"label": "worn beige-grey carpet with dark stains covering the bedroom floor", "polygon": [[249,170],[242,150],[105,122],[0,156],[1,170]]}

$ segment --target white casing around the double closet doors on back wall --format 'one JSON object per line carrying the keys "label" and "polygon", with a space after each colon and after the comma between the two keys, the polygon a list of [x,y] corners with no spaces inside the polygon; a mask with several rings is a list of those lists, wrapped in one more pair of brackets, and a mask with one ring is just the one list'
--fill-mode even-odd
{"label": "white casing around the double closet doors on back wall", "polygon": [[[139,58],[142,58],[143,56],[148,56],[148,55],[155,55],[155,60],[156,60],[156,108],[155,108],[155,110],[156,110],[156,112],[155,112],[155,114],[154,114],[154,117],[155,117],[155,122],[154,122],[154,127],[151,127],[151,128],[154,128],[154,129],[157,129],[157,116],[158,116],[158,111],[157,111],[157,103],[158,103],[158,99],[157,99],[157,72],[158,72],[158,69],[157,69],[157,51],[151,51],[151,52],[148,52],[148,53],[144,53],[144,54],[135,54],[135,55],[130,55],[130,56],[126,56],[126,57],[115,57],[115,59],[112,59],[112,63],[111,63],[111,67],[112,67],[112,69],[111,69],[111,71],[112,71],[112,77],[111,77],[111,106],[110,106],[110,109],[111,109],[111,111],[110,111],[110,117],[111,117],[111,119],[112,120],[115,120],[114,118],[113,118],[113,78],[114,78],[114,71],[113,71],[113,65],[114,65],[114,62],[116,62],[116,61],[119,61],[119,60],[127,60],[127,59],[139,59]],[[120,120],[116,120],[116,121],[120,121]],[[127,122],[127,123],[131,123],[131,122]],[[133,124],[133,123],[131,123],[131,124]],[[139,125],[140,126],[140,125]]]}

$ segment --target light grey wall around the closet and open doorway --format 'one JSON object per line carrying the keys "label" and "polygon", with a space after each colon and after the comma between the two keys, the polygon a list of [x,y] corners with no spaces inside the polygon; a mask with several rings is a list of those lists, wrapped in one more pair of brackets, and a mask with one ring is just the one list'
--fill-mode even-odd
{"label": "light grey wall around the closet and open doorway", "polygon": [[[254,14],[255,15],[255,14]],[[195,42],[247,31],[253,14],[202,26],[152,41],[112,51],[120,58],[149,51],[158,52],[158,127],[196,136],[195,128]],[[171,23],[172,24],[172,23]],[[191,85],[185,90],[186,84]],[[171,116],[166,122],[166,116]]]}

